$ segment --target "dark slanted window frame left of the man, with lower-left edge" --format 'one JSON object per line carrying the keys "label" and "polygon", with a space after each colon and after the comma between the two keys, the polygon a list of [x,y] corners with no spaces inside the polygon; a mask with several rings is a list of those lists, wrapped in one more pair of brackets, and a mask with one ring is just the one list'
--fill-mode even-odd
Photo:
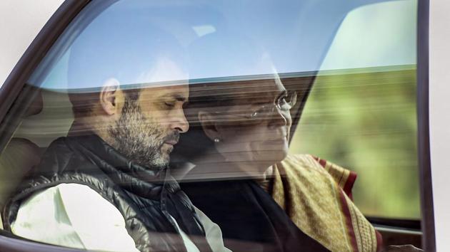
{"label": "dark slanted window frame left of the man, with lower-left edge", "polygon": [[[0,147],[3,147],[9,141],[12,132],[6,133],[6,127],[11,127],[9,123],[9,110],[13,107],[14,102],[19,93],[24,88],[26,80],[29,79],[31,73],[41,63],[42,59],[49,52],[51,46],[61,36],[69,23],[80,13],[81,9],[89,4],[91,0],[66,0],[54,12],[49,21],[39,31],[34,41],[26,49],[19,62],[9,73],[0,89]],[[63,248],[59,246],[51,246],[36,241],[14,236],[13,234],[0,230],[0,251],[11,252],[75,252],[81,251],[75,248]]]}

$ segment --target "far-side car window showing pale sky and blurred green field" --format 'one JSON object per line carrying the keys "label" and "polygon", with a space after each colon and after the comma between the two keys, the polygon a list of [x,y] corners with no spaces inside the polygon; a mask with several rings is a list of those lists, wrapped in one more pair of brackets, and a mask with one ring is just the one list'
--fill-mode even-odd
{"label": "far-side car window showing pale sky and blurred green field", "polygon": [[420,219],[415,23],[416,1],[351,11],[291,145],[354,169],[354,200],[369,216]]}

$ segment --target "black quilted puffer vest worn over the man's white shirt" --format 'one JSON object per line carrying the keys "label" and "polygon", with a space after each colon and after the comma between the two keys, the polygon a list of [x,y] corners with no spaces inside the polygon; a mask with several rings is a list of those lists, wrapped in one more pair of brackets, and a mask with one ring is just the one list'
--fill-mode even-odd
{"label": "black quilted puffer vest worn over the man's white shirt", "polygon": [[139,251],[186,251],[169,214],[201,251],[211,251],[191,201],[168,170],[136,165],[96,135],[61,137],[49,146],[6,204],[5,229],[11,230],[21,201],[61,183],[85,184],[116,206]]}

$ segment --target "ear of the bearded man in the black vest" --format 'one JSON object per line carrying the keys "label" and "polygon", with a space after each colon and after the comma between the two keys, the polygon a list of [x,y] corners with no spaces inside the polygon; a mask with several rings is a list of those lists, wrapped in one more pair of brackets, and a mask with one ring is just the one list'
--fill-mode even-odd
{"label": "ear of the bearded man in the black vest", "polygon": [[101,87],[100,105],[107,115],[115,115],[120,109],[122,90],[119,88],[119,81],[116,79],[106,80]]}

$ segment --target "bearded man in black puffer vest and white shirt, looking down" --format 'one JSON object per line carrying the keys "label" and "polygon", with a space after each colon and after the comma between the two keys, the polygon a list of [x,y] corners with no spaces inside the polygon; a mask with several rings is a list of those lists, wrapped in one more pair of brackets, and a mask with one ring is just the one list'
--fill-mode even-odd
{"label": "bearded man in black puffer vest and white shirt, looking down", "polygon": [[34,241],[99,251],[229,251],[219,226],[171,178],[169,154],[189,128],[187,85],[71,94],[74,124],[46,150],[4,211]]}

